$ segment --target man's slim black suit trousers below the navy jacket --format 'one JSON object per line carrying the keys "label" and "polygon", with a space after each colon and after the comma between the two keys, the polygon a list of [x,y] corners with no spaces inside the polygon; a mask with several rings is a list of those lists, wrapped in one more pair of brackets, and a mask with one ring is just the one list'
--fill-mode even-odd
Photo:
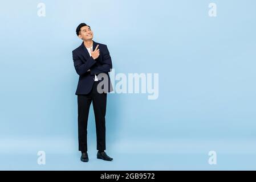
{"label": "man's slim black suit trousers below the navy jacket", "polygon": [[107,106],[107,93],[98,93],[94,81],[92,90],[88,94],[78,95],[78,143],[79,151],[87,152],[87,123],[90,105],[94,107],[96,124],[97,150],[105,150],[105,113]]}

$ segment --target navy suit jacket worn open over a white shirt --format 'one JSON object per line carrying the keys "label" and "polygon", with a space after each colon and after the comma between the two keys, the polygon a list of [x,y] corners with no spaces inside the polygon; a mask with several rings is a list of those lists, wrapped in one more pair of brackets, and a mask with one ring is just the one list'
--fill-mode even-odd
{"label": "navy suit jacket worn open over a white shirt", "polygon": [[[94,84],[95,74],[98,76],[100,73],[105,73],[107,75],[107,92],[113,91],[110,77],[108,75],[108,72],[110,72],[112,69],[111,56],[109,55],[109,51],[106,45],[96,43],[94,41],[92,46],[93,51],[97,45],[99,45],[98,49],[100,49],[100,55],[95,60],[90,56],[89,52],[84,46],[84,43],[72,51],[74,67],[76,73],[79,75],[78,86],[75,93],[76,95],[88,94],[92,89],[92,85]],[[88,69],[91,71],[88,71]],[[104,78],[101,80],[98,78],[98,80],[101,82],[104,80]],[[104,88],[104,86],[102,88]]]}

